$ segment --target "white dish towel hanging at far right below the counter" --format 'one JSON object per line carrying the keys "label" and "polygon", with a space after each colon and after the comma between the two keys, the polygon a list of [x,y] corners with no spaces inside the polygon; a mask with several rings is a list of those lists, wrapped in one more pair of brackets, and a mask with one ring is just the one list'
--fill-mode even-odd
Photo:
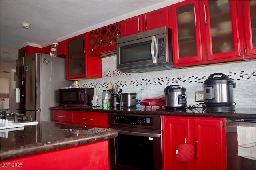
{"label": "white dish towel hanging at far right below the counter", "polygon": [[237,127],[238,156],[256,160],[256,127]]}

